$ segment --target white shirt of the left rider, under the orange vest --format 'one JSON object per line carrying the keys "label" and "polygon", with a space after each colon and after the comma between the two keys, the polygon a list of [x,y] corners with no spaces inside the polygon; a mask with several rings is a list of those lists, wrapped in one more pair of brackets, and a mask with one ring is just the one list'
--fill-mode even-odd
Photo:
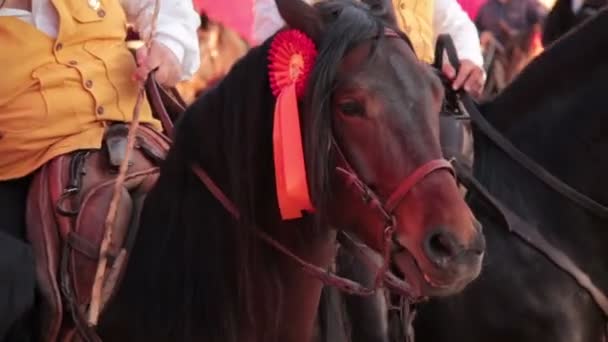
{"label": "white shirt of the left rider, under the orange vest", "polygon": [[[85,0],[83,0],[85,1]],[[154,0],[120,0],[127,20],[143,35],[149,34]],[[50,0],[32,0],[32,11],[0,8],[0,16],[14,16],[56,38],[59,18]],[[196,30],[200,16],[191,0],[160,0],[155,39],[168,47],[182,65],[182,79],[190,78],[200,65]]]}

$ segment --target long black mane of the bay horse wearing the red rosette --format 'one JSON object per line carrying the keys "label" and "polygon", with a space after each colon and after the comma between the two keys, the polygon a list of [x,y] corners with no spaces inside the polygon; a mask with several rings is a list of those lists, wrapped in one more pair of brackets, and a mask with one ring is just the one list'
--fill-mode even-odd
{"label": "long black mane of the bay horse wearing the red rosette", "polygon": [[[353,1],[317,6],[327,30],[301,106],[317,210],[314,220],[302,220],[310,229],[289,231],[304,244],[327,229],[323,208],[329,193],[330,94],[336,71],[350,47],[382,27],[381,19]],[[251,49],[188,108],[177,124],[156,187],[148,194],[130,258],[133,266],[114,311],[122,310],[123,317],[131,319],[129,326],[150,341],[236,342],[244,333],[248,340],[253,333],[263,341],[276,340],[282,315],[276,260],[282,256],[251,234],[252,227],[268,231],[280,222],[272,154],[275,99],[267,68],[271,40]],[[192,163],[205,169],[236,204],[238,222],[193,175]]]}

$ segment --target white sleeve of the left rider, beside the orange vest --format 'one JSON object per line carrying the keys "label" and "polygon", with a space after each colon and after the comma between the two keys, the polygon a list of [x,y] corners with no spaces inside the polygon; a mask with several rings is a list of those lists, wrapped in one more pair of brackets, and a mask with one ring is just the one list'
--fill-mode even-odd
{"label": "white sleeve of the left rider, beside the orange vest", "polygon": [[[152,29],[155,0],[121,0],[127,18],[143,36]],[[159,0],[156,41],[168,47],[182,65],[182,80],[194,75],[200,66],[197,29],[201,24],[191,0]]]}

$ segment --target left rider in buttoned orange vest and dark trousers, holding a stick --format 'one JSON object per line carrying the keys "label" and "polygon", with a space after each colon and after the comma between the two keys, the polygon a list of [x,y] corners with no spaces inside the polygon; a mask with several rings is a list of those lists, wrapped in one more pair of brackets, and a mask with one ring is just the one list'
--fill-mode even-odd
{"label": "left rider in buttoned orange vest and dark trousers, holding a stick", "polygon": [[[0,341],[33,306],[34,265],[25,239],[31,175],[50,159],[99,148],[109,122],[132,119],[137,79],[157,69],[173,86],[199,66],[191,0],[0,0]],[[149,48],[133,58],[126,23]],[[160,129],[145,103],[141,122]],[[12,329],[17,330],[17,329]]]}

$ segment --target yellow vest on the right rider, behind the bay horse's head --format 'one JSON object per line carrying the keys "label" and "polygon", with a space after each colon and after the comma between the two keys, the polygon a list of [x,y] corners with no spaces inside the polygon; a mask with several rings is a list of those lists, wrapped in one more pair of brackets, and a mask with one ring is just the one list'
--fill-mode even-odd
{"label": "yellow vest on the right rider, behind the bay horse's head", "polygon": [[421,60],[432,63],[434,56],[433,0],[393,0],[399,28],[407,33]]}

